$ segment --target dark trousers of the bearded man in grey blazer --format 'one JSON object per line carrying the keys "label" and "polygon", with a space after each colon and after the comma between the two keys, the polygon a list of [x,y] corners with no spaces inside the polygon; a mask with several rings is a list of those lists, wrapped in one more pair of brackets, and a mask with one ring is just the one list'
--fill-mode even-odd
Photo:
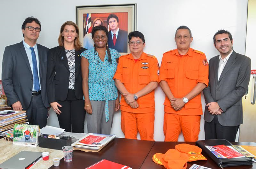
{"label": "dark trousers of the bearded man in grey blazer", "polygon": [[205,140],[226,139],[229,142],[235,142],[239,126],[222,126],[219,123],[217,116],[221,115],[214,115],[214,118],[210,123],[204,121]]}

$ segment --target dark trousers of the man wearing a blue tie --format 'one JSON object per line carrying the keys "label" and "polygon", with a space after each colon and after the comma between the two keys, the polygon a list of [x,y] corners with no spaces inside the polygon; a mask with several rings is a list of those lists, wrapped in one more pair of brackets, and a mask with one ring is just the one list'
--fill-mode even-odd
{"label": "dark trousers of the man wearing a blue tie", "polygon": [[46,126],[48,110],[44,107],[41,94],[32,96],[28,109],[26,110],[28,122],[31,125],[38,125],[40,128]]}

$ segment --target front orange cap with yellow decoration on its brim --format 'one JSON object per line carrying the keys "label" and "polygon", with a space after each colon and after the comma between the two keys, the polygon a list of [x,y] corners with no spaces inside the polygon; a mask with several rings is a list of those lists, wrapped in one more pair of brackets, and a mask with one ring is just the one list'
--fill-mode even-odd
{"label": "front orange cap with yellow decoration on its brim", "polygon": [[165,154],[154,154],[152,159],[156,164],[164,165],[167,169],[186,169],[188,155],[175,149],[169,149]]}

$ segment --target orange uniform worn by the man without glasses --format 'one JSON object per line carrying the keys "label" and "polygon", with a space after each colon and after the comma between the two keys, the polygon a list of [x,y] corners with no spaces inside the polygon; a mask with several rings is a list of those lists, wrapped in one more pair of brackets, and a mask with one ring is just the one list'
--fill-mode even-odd
{"label": "orange uniform worn by the man without glasses", "polygon": [[[199,82],[208,86],[208,62],[204,53],[192,48],[183,56],[180,56],[177,49],[165,52],[159,81],[168,83],[175,98],[183,98]],[[168,97],[165,97],[165,141],[178,141],[181,130],[185,142],[197,141],[202,114],[201,93],[189,100],[180,111],[175,111]]]}

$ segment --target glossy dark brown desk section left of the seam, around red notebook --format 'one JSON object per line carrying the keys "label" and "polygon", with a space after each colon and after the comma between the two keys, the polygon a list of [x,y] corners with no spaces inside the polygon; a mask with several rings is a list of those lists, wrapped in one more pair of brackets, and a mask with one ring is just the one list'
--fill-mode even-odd
{"label": "glossy dark brown desk section left of the seam, around red notebook", "polygon": [[73,151],[73,160],[71,162],[64,162],[64,158],[62,158],[59,166],[50,168],[84,169],[101,159],[106,159],[130,166],[132,169],[139,169],[154,143],[154,141],[115,138],[99,152],[75,150]]}

